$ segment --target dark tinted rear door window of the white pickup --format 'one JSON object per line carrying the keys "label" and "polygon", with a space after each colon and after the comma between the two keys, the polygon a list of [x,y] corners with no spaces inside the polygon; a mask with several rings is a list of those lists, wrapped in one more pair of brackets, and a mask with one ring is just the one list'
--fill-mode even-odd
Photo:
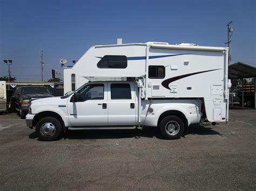
{"label": "dark tinted rear door window of the white pickup", "polygon": [[129,83],[112,83],[111,100],[131,100],[131,87]]}

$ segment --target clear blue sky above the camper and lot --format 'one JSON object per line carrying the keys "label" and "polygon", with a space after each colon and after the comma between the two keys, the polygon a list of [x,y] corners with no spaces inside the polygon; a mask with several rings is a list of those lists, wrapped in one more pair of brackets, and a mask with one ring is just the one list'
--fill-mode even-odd
{"label": "clear blue sky above the camper and lot", "polygon": [[193,43],[227,46],[232,21],[231,63],[256,67],[255,0],[82,1],[0,0],[0,76],[8,76],[3,60],[12,60],[11,76],[17,82],[51,78],[59,60],[73,66],[93,45]]}

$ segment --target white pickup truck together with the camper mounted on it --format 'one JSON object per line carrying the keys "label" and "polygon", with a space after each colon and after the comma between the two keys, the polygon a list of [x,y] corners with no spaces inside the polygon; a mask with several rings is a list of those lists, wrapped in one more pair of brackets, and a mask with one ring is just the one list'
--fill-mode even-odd
{"label": "white pickup truck together with the camper mounted on it", "polygon": [[[153,42],[93,46],[70,74],[78,81],[103,81],[88,82],[61,98],[32,101],[26,123],[36,126],[43,140],[55,140],[62,128],[141,125],[157,126],[165,138],[176,139],[190,124],[228,121],[227,65],[225,47]],[[127,82],[106,81],[124,77]]]}

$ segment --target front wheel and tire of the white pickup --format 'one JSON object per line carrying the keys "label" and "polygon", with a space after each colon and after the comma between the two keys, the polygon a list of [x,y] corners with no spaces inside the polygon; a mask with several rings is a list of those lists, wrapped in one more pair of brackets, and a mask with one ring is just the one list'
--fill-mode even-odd
{"label": "front wheel and tire of the white pickup", "polygon": [[[52,129],[49,130],[49,128],[52,128]],[[44,117],[37,122],[36,132],[38,133],[40,140],[44,140],[44,141],[56,140],[59,138],[60,134],[62,133],[62,124],[58,121],[58,119],[54,117]],[[49,134],[49,135],[46,135],[46,134]]]}

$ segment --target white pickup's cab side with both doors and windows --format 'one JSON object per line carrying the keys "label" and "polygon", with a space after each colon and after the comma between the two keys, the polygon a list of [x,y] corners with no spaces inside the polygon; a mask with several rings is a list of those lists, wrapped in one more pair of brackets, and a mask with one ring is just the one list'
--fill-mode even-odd
{"label": "white pickup's cab side with both doors and windows", "polygon": [[69,97],[69,122],[72,126],[137,125],[136,98],[134,82],[89,82]]}

